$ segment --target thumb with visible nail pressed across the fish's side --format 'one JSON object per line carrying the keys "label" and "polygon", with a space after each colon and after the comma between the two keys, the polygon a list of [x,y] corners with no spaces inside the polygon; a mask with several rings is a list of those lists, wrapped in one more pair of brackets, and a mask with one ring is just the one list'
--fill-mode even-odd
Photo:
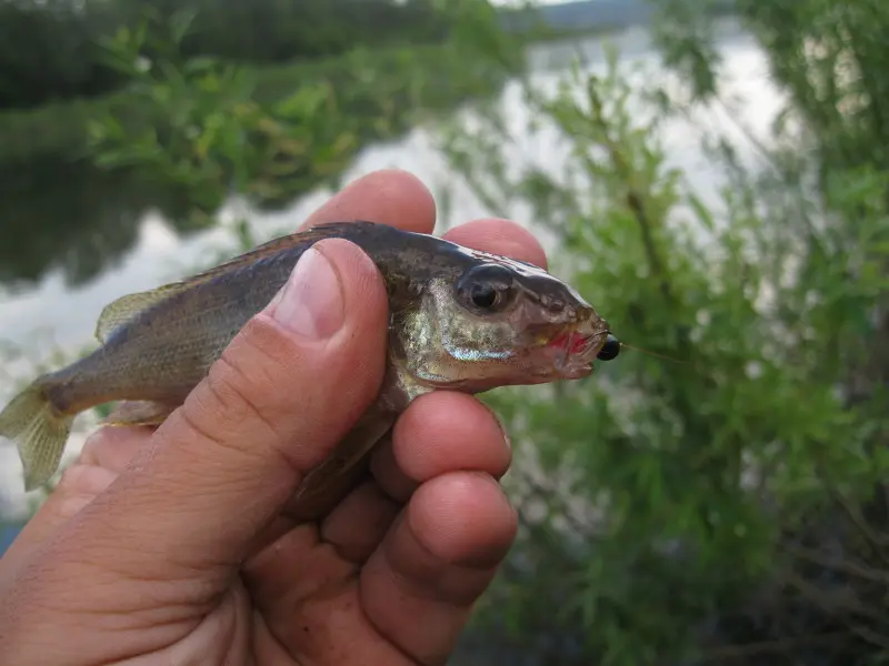
{"label": "thumb with visible nail pressed across the fish's side", "polygon": [[342,240],[308,250],[151,445],[81,512],[72,536],[90,554],[78,559],[110,557],[118,573],[150,579],[176,575],[172,566],[228,575],[372,402],[387,321],[366,254]]}

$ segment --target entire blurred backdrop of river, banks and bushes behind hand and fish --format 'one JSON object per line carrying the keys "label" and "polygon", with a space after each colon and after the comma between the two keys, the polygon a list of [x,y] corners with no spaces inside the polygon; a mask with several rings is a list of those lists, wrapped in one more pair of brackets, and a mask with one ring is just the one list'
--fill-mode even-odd
{"label": "entire blurred backdrop of river, banks and bushes behind hand and fish", "polygon": [[889,664],[885,1],[2,0],[0,33],[0,397],[404,168],[653,352],[486,397],[521,528],[453,663]]}

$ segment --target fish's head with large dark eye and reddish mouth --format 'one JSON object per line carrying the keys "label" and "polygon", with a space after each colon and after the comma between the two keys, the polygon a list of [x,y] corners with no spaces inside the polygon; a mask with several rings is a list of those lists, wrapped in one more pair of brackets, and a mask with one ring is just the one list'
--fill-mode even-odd
{"label": "fish's head with large dark eye and reddish mouth", "polygon": [[607,343],[617,344],[606,320],[563,281],[532,264],[461,250],[459,268],[429,280],[400,327],[402,364],[417,381],[479,393],[577,380],[592,373]]}

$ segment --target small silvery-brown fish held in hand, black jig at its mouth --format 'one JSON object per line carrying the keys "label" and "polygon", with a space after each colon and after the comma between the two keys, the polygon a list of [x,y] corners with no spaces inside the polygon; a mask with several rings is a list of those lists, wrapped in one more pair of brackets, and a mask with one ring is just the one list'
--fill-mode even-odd
{"label": "small silvery-brown fish held in hand, black jig at its mouth", "polygon": [[26,492],[58,471],[79,413],[117,402],[108,425],[163,423],[302,253],[337,238],[367,253],[386,284],[388,359],[376,401],[297,488],[291,504],[307,516],[337,495],[331,488],[348,487],[420,395],[580,380],[593,360],[611,360],[620,349],[592,305],[533,264],[376,222],[319,224],[107,305],[96,327],[100,346],[39,376],[0,412],[0,436],[17,445]]}

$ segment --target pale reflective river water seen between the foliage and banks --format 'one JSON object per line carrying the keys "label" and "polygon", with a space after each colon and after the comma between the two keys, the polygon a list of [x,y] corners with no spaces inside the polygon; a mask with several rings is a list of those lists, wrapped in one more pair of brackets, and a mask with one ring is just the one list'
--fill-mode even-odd
{"label": "pale reflective river water seen between the foliage and banks", "polygon": [[[618,48],[622,61],[640,63],[658,75],[659,56],[650,36],[642,28],[633,28],[605,37],[535,47],[529,52],[533,83],[555,89],[578,48],[583,53],[587,69],[603,72],[607,42]],[[723,87],[732,103],[731,111],[712,109],[696,114],[693,121],[670,121],[663,125],[661,134],[670,165],[681,169],[688,185],[710,201],[716,201],[721,180],[700,148],[705,133],[727,134],[736,142],[742,159],[753,160],[753,149],[739,131],[738,123],[765,137],[782,103],[769,80],[762,52],[731,20],[720,23],[718,47],[723,59]],[[521,128],[528,121],[530,110],[522,102],[518,82],[506,85],[498,103],[511,127]],[[471,109],[461,112],[471,113]],[[347,171],[346,181],[378,169],[404,169],[422,179],[437,196],[442,186],[450,189],[449,210],[447,215],[440,215],[439,229],[487,215],[513,218],[530,229],[535,228],[535,221],[528,219],[521,209],[486,210],[459,176],[448,169],[437,145],[436,127],[420,127],[398,141],[370,145]],[[546,132],[529,137],[527,141],[520,138],[509,151],[509,159],[515,163],[532,162],[553,171],[565,159],[565,154],[553,149]],[[52,198],[53,192],[50,190],[41,195]],[[273,214],[250,212],[251,226],[261,239],[293,230],[329,195],[330,191],[318,190]],[[221,212],[222,225],[187,238],[177,233],[159,213],[148,210],[133,221],[132,238],[127,242],[127,250],[110,260],[98,262],[100,268],[89,279],[72,283],[70,266],[68,271],[57,266],[49,268],[28,282],[0,282],[0,342],[23,347],[30,359],[37,360],[46,360],[56,347],[68,352],[81,349],[91,342],[96,319],[107,303],[122,294],[151,289],[187,274],[189,268],[206,263],[208,255],[228,246],[231,232],[224,228],[224,223],[242,210],[242,206],[232,203]],[[96,233],[90,221],[77,219],[76,212],[64,221],[64,238],[71,238],[71,234],[76,238],[80,224],[91,229],[90,233]],[[56,224],[57,221],[47,220],[47,223]],[[31,220],[29,224],[39,225],[40,220]],[[52,238],[52,233],[48,235]],[[94,252],[101,252],[101,248],[97,246]],[[91,259],[89,252],[87,259]],[[0,259],[0,263],[2,261]],[[83,260],[80,262],[83,263]],[[2,265],[0,270],[3,271],[0,275],[9,272]],[[11,381],[4,376],[30,374],[30,369],[22,362],[4,370],[6,373],[0,374],[0,403],[8,400],[12,391]],[[74,454],[82,441],[81,434],[72,435],[67,455]],[[9,443],[0,443],[0,512],[19,513],[23,509],[20,474],[14,448]]]}

